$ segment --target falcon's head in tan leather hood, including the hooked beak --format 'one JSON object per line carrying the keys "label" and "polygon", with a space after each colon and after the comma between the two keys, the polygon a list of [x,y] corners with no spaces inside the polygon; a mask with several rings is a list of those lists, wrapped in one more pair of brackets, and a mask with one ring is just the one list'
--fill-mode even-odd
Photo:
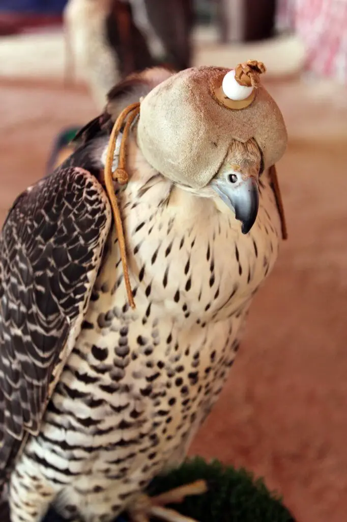
{"label": "falcon's head in tan leather hood, including the hooked beak", "polygon": [[249,61],[170,75],[141,101],[137,125],[148,163],[185,190],[219,198],[245,234],[257,217],[259,175],[287,146],[282,114],[259,81],[263,72],[261,62]]}

